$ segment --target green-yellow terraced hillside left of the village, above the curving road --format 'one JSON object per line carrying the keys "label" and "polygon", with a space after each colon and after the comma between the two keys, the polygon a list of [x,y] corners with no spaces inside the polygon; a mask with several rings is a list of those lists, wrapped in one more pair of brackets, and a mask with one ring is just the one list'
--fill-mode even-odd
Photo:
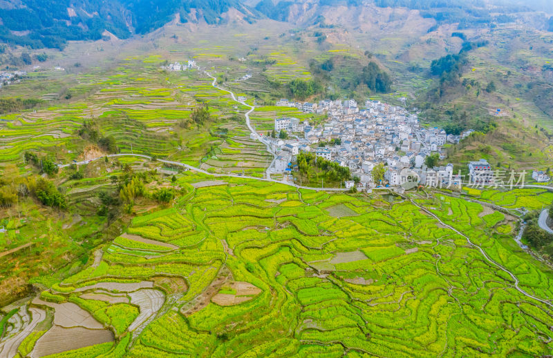
{"label": "green-yellow terraced hillside left of the village, above the curving road", "polygon": [[[91,143],[78,132],[95,121],[99,135],[113,137],[122,152],[262,175],[272,157],[250,141],[241,115],[248,108],[213,88],[202,71],[162,72],[163,61],[156,55],[127,57],[113,70],[77,76],[79,88],[73,90],[88,93],[86,101],[0,117],[0,157],[22,163],[24,152],[35,151],[54,154],[61,163],[89,159]],[[201,126],[189,118],[198,103],[212,115]]]}

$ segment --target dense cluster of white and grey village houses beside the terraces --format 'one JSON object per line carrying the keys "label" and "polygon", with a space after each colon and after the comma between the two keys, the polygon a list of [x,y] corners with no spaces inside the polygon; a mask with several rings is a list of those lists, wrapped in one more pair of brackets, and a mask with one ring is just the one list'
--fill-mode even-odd
{"label": "dense cluster of white and grey village houses beside the terraces", "polygon": [[[319,103],[294,103],[281,99],[277,106],[295,107],[303,112],[326,112],[328,121],[311,126],[308,121],[294,117],[275,119],[274,130],[277,133],[287,131],[289,139],[262,136],[265,144],[277,153],[271,168],[273,172],[294,170],[293,159],[303,151],[348,167],[359,182],[346,181],[346,188],[357,186],[357,190],[372,190],[376,186],[400,188],[406,181],[406,173],[413,172],[419,183],[425,186],[460,185],[467,179],[480,186],[494,184],[496,173],[485,159],[469,163],[468,178],[454,173],[452,164],[436,168],[427,168],[424,164],[424,159],[432,153],[438,153],[440,159],[444,159],[444,146],[458,143],[473,130],[448,135],[439,128],[425,128],[420,126],[417,115],[379,101],[366,101],[363,110],[359,110],[353,99]],[[335,141],[328,145],[332,139]],[[376,183],[372,171],[381,162],[386,168],[384,181]],[[536,181],[550,180],[543,172],[533,172],[532,177]]]}

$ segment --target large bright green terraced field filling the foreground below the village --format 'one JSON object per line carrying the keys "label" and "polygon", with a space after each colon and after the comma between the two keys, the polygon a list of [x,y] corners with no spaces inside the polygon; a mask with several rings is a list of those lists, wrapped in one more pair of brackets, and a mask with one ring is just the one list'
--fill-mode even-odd
{"label": "large bright green terraced field filling the foreground below the village", "polygon": [[[50,330],[82,310],[113,332],[52,357],[553,352],[552,306],[495,263],[545,300],[553,272],[501,233],[513,222],[502,212],[439,193],[384,200],[191,172],[178,185],[174,206],[135,217],[101,259],[33,301],[55,308]],[[45,349],[48,332],[24,351]]]}

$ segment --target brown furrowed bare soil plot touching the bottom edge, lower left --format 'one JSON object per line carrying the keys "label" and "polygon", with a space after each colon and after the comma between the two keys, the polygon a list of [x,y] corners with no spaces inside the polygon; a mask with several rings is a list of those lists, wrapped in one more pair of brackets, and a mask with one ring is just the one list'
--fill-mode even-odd
{"label": "brown furrowed bare soil plot touching the bottom edge, lower left", "polygon": [[53,326],[40,337],[32,350],[30,357],[39,358],[45,355],[54,355],[95,344],[113,341],[111,330],[91,330],[83,327],[63,328]]}

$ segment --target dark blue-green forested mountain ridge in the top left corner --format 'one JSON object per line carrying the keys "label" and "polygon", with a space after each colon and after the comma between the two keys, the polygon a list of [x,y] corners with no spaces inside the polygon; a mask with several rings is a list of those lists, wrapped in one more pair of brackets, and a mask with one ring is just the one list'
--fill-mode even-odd
{"label": "dark blue-green forested mountain ridge in the top left corner", "polygon": [[102,39],[104,31],[119,39],[147,34],[176,15],[208,24],[224,22],[231,9],[245,21],[257,16],[239,0],[3,0],[0,9],[0,42],[60,50],[67,41]]}

